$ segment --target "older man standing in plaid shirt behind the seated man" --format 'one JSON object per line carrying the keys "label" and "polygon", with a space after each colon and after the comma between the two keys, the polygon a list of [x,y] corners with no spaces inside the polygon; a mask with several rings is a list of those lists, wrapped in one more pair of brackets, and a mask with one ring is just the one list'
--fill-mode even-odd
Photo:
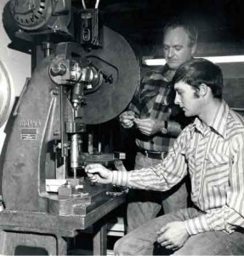
{"label": "older man standing in plaid shirt behind the seated man", "polygon": [[[188,120],[167,100],[170,81],[176,69],[192,58],[197,32],[179,20],[163,30],[163,53],[167,64],[147,73],[142,79],[128,111],[120,116],[124,128],[136,129],[138,153],[134,169],[154,166],[167,155],[168,147]],[[187,206],[185,180],[165,193],[131,189],[128,195],[128,232],[145,224],[163,210],[164,213]]]}

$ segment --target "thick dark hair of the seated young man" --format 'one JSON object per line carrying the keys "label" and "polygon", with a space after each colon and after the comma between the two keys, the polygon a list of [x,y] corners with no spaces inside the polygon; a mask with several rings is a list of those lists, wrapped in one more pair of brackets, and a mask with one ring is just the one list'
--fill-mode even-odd
{"label": "thick dark hair of the seated young man", "polygon": [[192,87],[199,89],[201,84],[211,88],[213,97],[222,98],[223,73],[217,65],[203,58],[197,58],[184,62],[173,76],[172,84],[183,81]]}

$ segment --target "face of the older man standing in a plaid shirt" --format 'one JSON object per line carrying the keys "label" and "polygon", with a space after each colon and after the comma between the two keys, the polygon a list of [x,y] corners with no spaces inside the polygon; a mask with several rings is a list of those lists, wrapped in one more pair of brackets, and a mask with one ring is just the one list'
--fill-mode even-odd
{"label": "face of the older man standing in a plaid shirt", "polygon": [[185,61],[189,61],[195,51],[190,47],[190,38],[183,27],[169,29],[163,39],[163,52],[168,67],[177,69]]}

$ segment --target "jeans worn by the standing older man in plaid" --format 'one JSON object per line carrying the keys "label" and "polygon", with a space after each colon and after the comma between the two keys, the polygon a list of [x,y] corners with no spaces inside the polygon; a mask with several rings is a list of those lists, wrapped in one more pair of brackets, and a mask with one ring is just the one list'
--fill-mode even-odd
{"label": "jeans worn by the standing older man in plaid", "polygon": [[[150,167],[162,160],[150,159],[140,152],[136,155],[134,169]],[[150,219],[156,218],[159,212],[166,214],[184,209],[187,206],[188,193],[185,180],[167,192],[131,189],[128,193],[127,232],[130,232]]]}

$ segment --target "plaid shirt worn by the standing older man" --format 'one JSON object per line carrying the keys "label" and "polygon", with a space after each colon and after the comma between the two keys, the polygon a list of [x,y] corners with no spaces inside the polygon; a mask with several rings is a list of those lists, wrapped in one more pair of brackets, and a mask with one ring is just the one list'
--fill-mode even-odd
{"label": "plaid shirt worn by the standing older man", "polygon": [[133,96],[128,110],[132,110],[136,117],[161,119],[168,122],[166,135],[158,132],[148,137],[137,131],[136,143],[139,148],[167,152],[184,125],[179,124],[181,120],[186,119],[184,114],[175,105],[171,104],[172,107],[169,107],[168,99],[172,91],[169,82],[173,79],[173,75],[174,71],[167,66],[152,70],[142,79]]}

